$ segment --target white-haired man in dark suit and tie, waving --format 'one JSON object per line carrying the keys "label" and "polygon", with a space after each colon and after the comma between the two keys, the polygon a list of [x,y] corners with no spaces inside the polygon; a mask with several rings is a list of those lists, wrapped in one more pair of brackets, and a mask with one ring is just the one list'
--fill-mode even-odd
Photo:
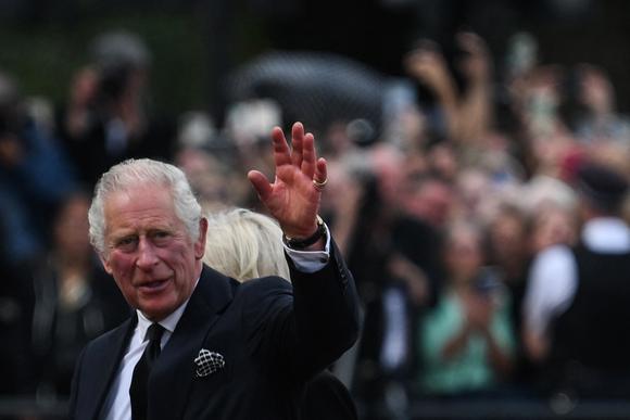
{"label": "white-haired man in dark suit and tie, waving", "polygon": [[207,221],[176,167],[127,161],[103,175],[90,239],[136,314],[84,351],[73,418],[294,419],[306,382],[354,343],[354,282],[316,216],[326,161],[299,123],[291,148],[279,128],[272,138],[274,182],[248,177],[282,228],[292,288],[203,265]]}

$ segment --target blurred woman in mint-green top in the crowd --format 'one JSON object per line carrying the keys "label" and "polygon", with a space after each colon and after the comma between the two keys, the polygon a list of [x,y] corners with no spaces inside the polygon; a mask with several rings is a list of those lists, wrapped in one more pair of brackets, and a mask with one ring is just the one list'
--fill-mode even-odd
{"label": "blurred woman in mint-green top in the crowd", "polygon": [[446,276],[438,305],[420,322],[424,394],[489,390],[512,367],[515,335],[502,284],[483,268],[482,234],[463,221],[450,226]]}

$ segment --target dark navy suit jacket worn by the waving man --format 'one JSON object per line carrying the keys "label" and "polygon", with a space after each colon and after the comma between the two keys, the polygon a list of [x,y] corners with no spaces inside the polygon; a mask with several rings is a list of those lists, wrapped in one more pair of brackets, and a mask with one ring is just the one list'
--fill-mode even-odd
{"label": "dark navy suit jacket worn by the waving man", "polygon": [[[305,383],[356,340],[354,281],[332,245],[324,269],[292,287],[268,277],[238,283],[204,267],[197,289],[149,379],[151,420],[297,419]],[[103,405],[137,322],[90,342],[79,357],[71,416],[102,416]],[[217,352],[225,367],[196,376],[200,349]]]}

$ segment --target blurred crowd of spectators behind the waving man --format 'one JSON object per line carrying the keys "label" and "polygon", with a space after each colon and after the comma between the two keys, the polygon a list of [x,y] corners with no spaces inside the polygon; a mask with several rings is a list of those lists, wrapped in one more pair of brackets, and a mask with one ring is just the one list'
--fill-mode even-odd
{"label": "blurred crowd of spectators behind the waving man", "polygon": [[[404,77],[353,78],[345,66],[352,84],[311,96],[308,86],[337,80],[308,67],[326,61],[288,54],[281,67],[293,65],[294,78],[249,90],[226,82],[240,91],[222,124],[202,111],[156,115],[150,69],[159,63],[128,33],[94,40],[63,104],[26,98],[2,74],[0,393],[63,400],[81,346],[128,316],[88,242],[100,174],[128,157],[161,158],[187,173],[206,209],[263,212],[245,173],[273,175],[269,130],[298,119],[328,161],[320,213],[363,303],[362,338],[332,369],[366,418],[371,405],[404,404],[388,399],[396,392],[628,397],[630,353],[620,351],[630,349],[630,292],[617,280],[630,275],[630,120],[616,109],[613,80],[593,63],[540,63],[529,34],[507,40],[506,56],[476,34],[455,37],[454,58],[419,40],[401,58]],[[380,103],[358,106],[356,98]],[[308,125],[308,102],[354,111]],[[584,257],[585,226],[596,217],[617,224],[595,242],[618,260],[593,270],[600,262]],[[577,262],[570,276],[602,273],[608,289],[567,280],[554,268],[564,263],[549,266],[554,253]],[[609,300],[602,305],[600,295]],[[588,357],[563,353],[560,344],[577,340],[567,331]],[[553,378],[550,366],[558,367]],[[613,386],[602,395],[601,383]]]}

